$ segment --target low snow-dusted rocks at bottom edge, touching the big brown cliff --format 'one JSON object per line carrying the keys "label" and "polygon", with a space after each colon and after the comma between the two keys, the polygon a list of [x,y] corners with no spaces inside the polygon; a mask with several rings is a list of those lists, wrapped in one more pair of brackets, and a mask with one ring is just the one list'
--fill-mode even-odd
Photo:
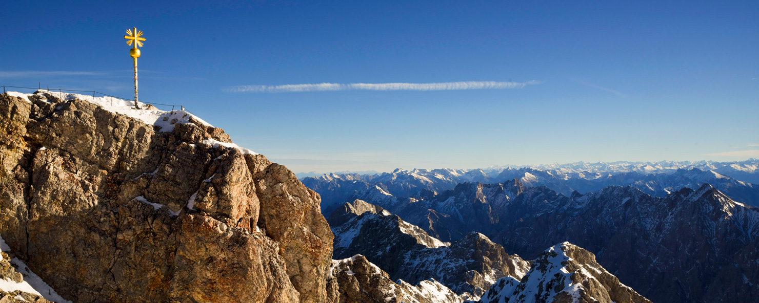
{"label": "low snow-dusted rocks at bottom edge, touching the big brown cliff", "polygon": [[332,260],[329,272],[329,300],[334,303],[460,303],[464,299],[436,280],[412,286],[403,280],[393,283],[390,276],[362,255]]}

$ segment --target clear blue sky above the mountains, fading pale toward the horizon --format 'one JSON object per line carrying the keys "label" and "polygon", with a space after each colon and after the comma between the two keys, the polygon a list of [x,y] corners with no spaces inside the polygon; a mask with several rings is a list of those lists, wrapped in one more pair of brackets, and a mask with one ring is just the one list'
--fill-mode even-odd
{"label": "clear blue sky above the mountains, fading pale toward the horizon", "polygon": [[[759,158],[757,15],[755,1],[8,3],[0,85],[128,98],[137,27],[140,101],[184,105],[296,172],[744,160]],[[465,81],[536,84],[345,89]],[[261,89],[319,83],[346,86]]]}

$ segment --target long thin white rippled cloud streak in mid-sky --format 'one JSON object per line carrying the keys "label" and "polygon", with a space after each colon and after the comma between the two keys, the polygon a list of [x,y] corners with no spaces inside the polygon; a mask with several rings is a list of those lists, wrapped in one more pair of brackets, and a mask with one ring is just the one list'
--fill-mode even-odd
{"label": "long thin white rippled cloud streak in mid-sky", "polygon": [[496,82],[465,81],[441,83],[317,83],[287,84],[279,86],[227,86],[225,92],[332,92],[339,90],[461,90],[461,89],[521,89],[524,86],[540,84],[540,81]]}

